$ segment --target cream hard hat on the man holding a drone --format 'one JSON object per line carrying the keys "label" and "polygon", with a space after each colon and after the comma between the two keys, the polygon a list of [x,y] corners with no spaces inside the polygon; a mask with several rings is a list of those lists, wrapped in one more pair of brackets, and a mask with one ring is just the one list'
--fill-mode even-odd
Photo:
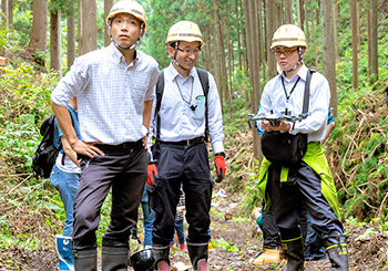
{"label": "cream hard hat on the man holding a drone", "polygon": [[307,48],[306,37],[302,29],[294,24],[283,24],[274,33],[270,49],[275,46],[304,46]]}

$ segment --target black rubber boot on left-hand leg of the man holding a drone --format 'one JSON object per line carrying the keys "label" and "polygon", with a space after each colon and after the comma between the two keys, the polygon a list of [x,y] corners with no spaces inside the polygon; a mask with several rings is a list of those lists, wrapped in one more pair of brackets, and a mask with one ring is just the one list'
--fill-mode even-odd
{"label": "black rubber boot on left-hand leg of the man holding a drone", "polygon": [[305,265],[305,249],[303,237],[290,240],[282,240],[282,248],[287,257],[287,267],[285,271],[304,270]]}

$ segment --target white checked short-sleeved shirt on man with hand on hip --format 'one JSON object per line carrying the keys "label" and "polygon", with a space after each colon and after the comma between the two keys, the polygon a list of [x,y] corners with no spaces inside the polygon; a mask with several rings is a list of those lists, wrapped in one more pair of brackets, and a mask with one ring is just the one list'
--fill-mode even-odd
{"label": "white checked short-sleeved shirt on man with hand on hip", "polygon": [[157,72],[152,56],[136,51],[135,61],[127,65],[111,43],[78,58],[51,100],[65,107],[76,96],[84,142],[136,142],[146,134],[144,101],[154,100]]}

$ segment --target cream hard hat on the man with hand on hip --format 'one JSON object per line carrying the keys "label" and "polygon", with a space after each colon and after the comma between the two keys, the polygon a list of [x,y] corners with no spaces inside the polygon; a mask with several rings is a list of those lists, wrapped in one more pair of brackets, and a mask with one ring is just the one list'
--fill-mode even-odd
{"label": "cream hard hat on the man with hand on hip", "polygon": [[[115,4],[113,4],[111,11],[109,12],[109,15],[106,17],[106,24],[108,27],[110,27],[109,21],[115,17],[119,13],[127,13],[131,15],[134,15],[135,18],[137,18],[140,21],[142,21],[144,23],[144,28],[146,27],[146,22],[145,22],[145,12],[143,7],[137,3],[134,0],[121,0],[119,2],[116,2]],[[144,33],[144,31],[143,31]]]}

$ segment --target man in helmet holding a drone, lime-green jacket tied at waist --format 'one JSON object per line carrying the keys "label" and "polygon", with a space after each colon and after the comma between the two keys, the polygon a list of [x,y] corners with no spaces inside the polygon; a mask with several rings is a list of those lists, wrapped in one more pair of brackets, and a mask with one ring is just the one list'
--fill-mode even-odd
{"label": "man in helmet holding a drone, lime-green jacket tied at waist", "polygon": [[[274,33],[270,49],[283,71],[265,85],[259,113],[297,116],[306,105],[308,113],[307,117],[296,123],[258,122],[258,128],[265,131],[262,145],[265,144],[265,137],[269,146],[268,138],[275,140],[300,135],[299,138],[305,138],[307,150],[300,160],[290,164],[269,158],[270,152],[264,153],[263,146],[265,157],[259,170],[258,188],[265,199],[266,211],[273,211],[280,231],[282,247],[288,258],[286,270],[304,270],[304,241],[298,226],[304,209],[312,227],[324,241],[333,269],[348,270],[337,191],[320,145],[325,138],[330,90],[320,73],[310,72],[303,63],[306,48],[305,34],[296,25],[282,25]],[[308,74],[310,83],[306,84]],[[306,85],[309,85],[309,101],[305,103]],[[283,150],[277,150],[277,154]]]}

